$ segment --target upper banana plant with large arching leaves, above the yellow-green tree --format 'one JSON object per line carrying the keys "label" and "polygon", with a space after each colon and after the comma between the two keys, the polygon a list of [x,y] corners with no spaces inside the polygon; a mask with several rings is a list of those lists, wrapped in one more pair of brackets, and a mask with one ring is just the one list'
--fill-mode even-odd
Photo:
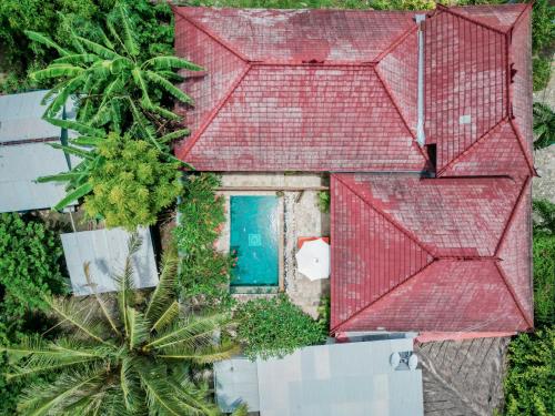
{"label": "upper banana plant with large arching leaves, above the yellow-green tree", "polygon": [[188,134],[186,129],[168,132],[169,122],[180,120],[170,110],[173,101],[192,104],[192,99],[173,84],[183,80],[174,71],[203,68],[172,55],[140,59],[134,29],[121,2],[107,18],[105,28],[108,33],[99,29],[103,44],[70,33],[71,49],[42,33],[26,32],[60,54],[31,74],[37,81],[58,81],[44,98],[44,103],[51,100],[44,116],[54,118],[70,97],[77,97],[79,122],[118,133],[131,129],[160,150],[168,150],[169,141]]}

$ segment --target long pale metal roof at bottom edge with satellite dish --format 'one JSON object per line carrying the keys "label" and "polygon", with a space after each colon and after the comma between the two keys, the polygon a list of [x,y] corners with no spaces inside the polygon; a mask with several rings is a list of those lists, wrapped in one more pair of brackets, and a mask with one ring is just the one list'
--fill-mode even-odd
{"label": "long pale metal roof at bottom edge with satellite dish", "polygon": [[254,363],[234,358],[214,367],[218,403],[229,412],[244,400],[262,416],[423,415],[422,372],[390,365],[392,353],[412,351],[413,341],[401,338],[317,345]]}

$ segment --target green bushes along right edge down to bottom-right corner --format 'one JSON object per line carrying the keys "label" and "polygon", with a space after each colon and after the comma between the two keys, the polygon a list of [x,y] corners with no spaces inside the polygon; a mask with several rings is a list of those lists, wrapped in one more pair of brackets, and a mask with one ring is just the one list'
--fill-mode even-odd
{"label": "green bushes along right edge down to bottom-right corner", "polygon": [[511,342],[505,379],[508,416],[555,413],[555,204],[534,201],[534,334]]}

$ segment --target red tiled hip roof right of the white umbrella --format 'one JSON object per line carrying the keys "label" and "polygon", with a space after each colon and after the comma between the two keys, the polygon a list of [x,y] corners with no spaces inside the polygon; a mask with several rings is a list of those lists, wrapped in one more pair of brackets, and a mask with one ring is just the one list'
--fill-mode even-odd
{"label": "red tiled hip roof right of the white umbrella", "polygon": [[529,182],[332,175],[332,331],[531,328]]}

